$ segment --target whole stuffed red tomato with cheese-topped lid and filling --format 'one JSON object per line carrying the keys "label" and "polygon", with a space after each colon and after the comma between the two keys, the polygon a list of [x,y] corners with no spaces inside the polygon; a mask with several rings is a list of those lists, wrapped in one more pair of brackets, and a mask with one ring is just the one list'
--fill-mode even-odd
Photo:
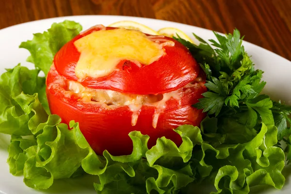
{"label": "whole stuffed red tomato with cheese-topped lid and filling", "polygon": [[101,155],[132,152],[129,132],[149,135],[148,147],[173,130],[199,126],[205,113],[192,107],[206,92],[205,75],[187,48],[164,36],[95,26],[55,55],[47,77],[51,113],[79,122]]}

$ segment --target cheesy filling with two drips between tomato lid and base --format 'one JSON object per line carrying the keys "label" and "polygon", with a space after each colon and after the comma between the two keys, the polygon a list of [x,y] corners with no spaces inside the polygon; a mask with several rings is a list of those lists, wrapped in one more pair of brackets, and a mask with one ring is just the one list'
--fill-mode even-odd
{"label": "cheesy filling with two drips between tomato lid and base", "polygon": [[[81,98],[82,101],[88,103],[100,103],[107,107],[110,106],[129,106],[132,112],[131,125],[135,126],[143,105],[154,106],[157,108],[153,115],[152,126],[157,127],[160,114],[166,108],[166,102],[170,98],[180,99],[181,89],[165,94],[159,95],[137,95],[137,94],[124,94],[113,90],[103,89],[90,89],[85,88],[77,81],[67,82],[67,91],[75,93]],[[68,94],[68,97],[71,93]]]}

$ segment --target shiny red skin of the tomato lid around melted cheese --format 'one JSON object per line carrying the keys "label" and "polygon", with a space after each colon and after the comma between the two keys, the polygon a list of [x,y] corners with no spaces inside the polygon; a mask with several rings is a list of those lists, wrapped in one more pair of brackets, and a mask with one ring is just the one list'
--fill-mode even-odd
{"label": "shiny red skin of the tomato lid around melted cheese", "polygon": [[[106,27],[106,30],[113,29]],[[60,75],[71,80],[78,80],[75,75],[75,67],[80,52],[74,42],[98,30],[100,27],[93,27],[79,34],[57,52],[54,64]],[[130,68],[123,69],[125,61],[121,61],[110,75],[101,78],[87,77],[81,81],[81,84],[88,88],[110,89],[127,94],[164,94],[193,81],[199,74],[200,67],[189,50],[172,38],[164,37],[163,39],[173,41],[175,46],[164,46],[166,54],[152,64],[138,67],[130,62]]]}

